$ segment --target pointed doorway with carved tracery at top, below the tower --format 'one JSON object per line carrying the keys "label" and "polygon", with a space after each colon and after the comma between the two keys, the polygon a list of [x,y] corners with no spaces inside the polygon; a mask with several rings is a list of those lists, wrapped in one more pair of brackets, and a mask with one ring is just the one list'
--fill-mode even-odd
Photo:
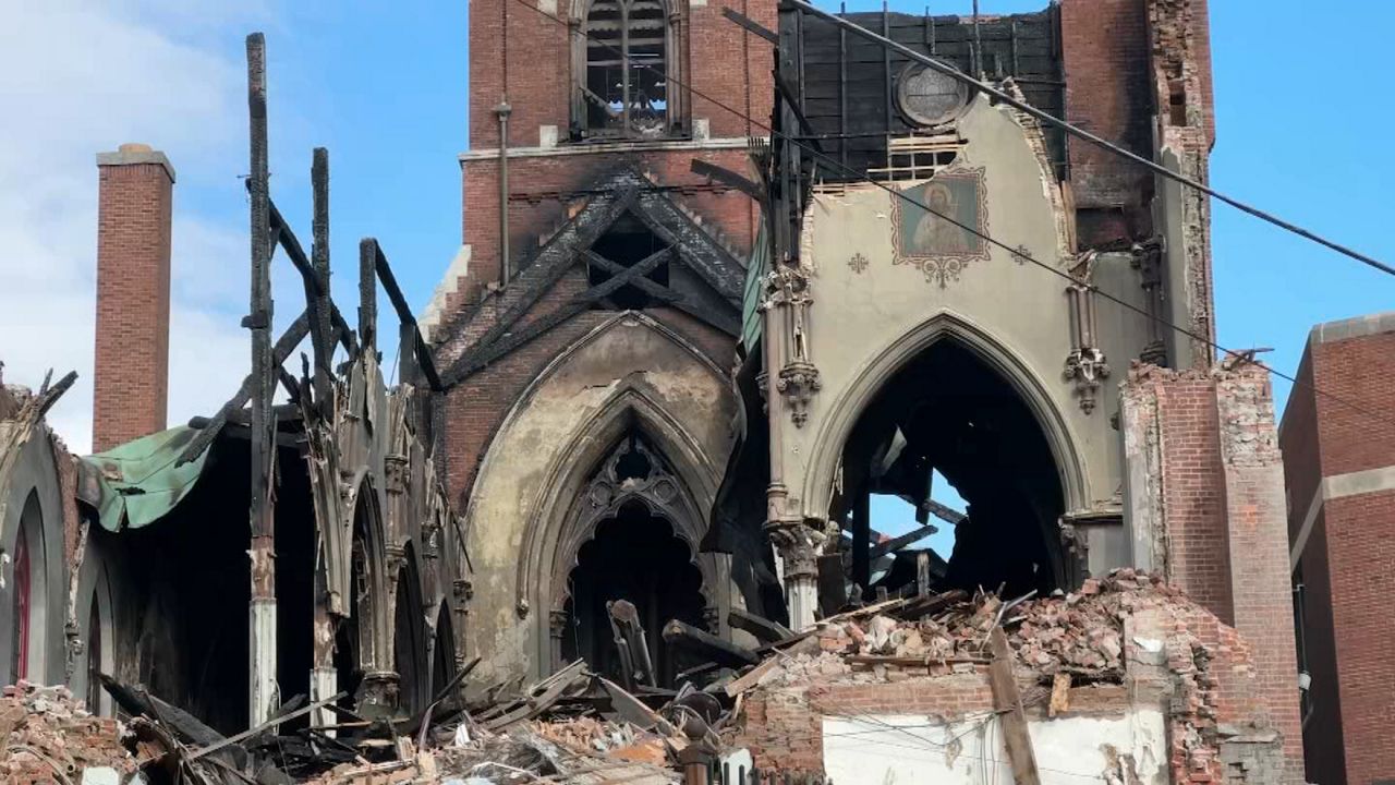
{"label": "pointed doorway with carved tracery at top, below the tower", "polygon": [[557,610],[561,661],[585,658],[603,675],[619,676],[619,652],[608,603],[629,601],[639,612],[660,684],[681,670],[663,644],[670,619],[703,626],[703,574],[693,543],[678,536],[677,515],[693,514],[667,464],[635,432],[626,434],[587,485],[572,528],[575,559],[562,578]]}

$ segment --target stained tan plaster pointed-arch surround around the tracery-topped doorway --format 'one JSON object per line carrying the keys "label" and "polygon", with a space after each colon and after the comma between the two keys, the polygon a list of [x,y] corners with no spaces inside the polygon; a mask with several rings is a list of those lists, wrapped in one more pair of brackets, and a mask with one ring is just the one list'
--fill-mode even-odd
{"label": "stained tan plaster pointed-arch surround around the tracery-topped doorway", "polygon": [[[681,337],[617,314],[564,352],[520,397],[480,465],[466,510],[474,566],[472,682],[537,676],[545,663],[550,546],[576,493],[622,432],[638,426],[702,511],[731,448],[725,373]],[[540,541],[548,542],[540,542]],[[693,543],[695,545],[695,543]],[[529,571],[529,578],[520,575]]]}

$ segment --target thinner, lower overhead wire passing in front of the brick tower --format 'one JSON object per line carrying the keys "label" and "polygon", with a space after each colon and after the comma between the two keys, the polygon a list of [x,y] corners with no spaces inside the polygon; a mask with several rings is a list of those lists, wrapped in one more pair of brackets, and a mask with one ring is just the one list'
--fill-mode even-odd
{"label": "thinner, lower overhead wire passing in front of the brick tower", "polygon": [[[533,13],[536,13],[536,14],[538,14],[538,15],[547,18],[547,20],[551,20],[552,22],[555,22],[559,27],[571,29],[571,25],[565,20],[562,20],[562,18],[554,15],[554,14],[550,14],[550,13],[538,8],[536,4],[531,4],[527,0],[513,0],[513,1],[519,3],[520,6],[526,7],[527,10],[533,11]],[[799,3],[802,0],[791,0],[791,1]],[[610,52],[612,52],[612,53],[615,53],[615,54],[618,54],[619,57],[624,59],[624,52],[621,52],[615,46],[610,45],[610,43],[607,43],[604,41],[600,41],[600,39],[591,36],[590,34],[586,34],[585,36],[586,36],[586,39],[589,42],[596,42],[603,49],[608,49]],[[844,165],[838,159],[829,156],[827,154],[822,152],[820,149],[817,149],[817,148],[815,148],[815,147],[812,147],[812,145],[809,145],[806,142],[802,142],[798,137],[785,134],[783,131],[777,131],[776,129],[770,127],[769,124],[764,124],[760,120],[756,120],[755,117],[751,117],[749,115],[742,113],[741,110],[732,108],[728,103],[724,103],[721,101],[717,101],[716,98],[711,98],[710,95],[707,95],[707,94],[699,91],[698,88],[692,87],[692,84],[686,84],[682,80],[679,80],[679,78],[677,78],[677,77],[674,77],[671,74],[667,74],[667,73],[664,73],[660,68],[656,68],[654,66],[650,66],[647,63],[635,63],[635,66],[638,66],[640,68],[644,68],[644,70],[649,70],[649,71],[653,71],[654,74],[658,74],[658,75],[664,77],[665,80],[675,82],[678,87],[682,87],[684,89],[686,89],[691,94],[696,95],[698,98],[700,98],[700,99],[711,103],[713,106],[717,106],[718,109],[723,109],[724,112],[730,112],[731,115],[737,116],[738,119],[745,120],[746,123],[749,123],[755,129],[766,131],[766,133],[769,133],[773,137],[783,138],[784,141],[787,141],[787,142],[790,142],[790,144],[801,148],[802,151],[808,152],[810,156],[826,162],[834,170],[840,170],[840,172],[843,172],[845,175],[850,175],[855,180],[859,180],[859,182],[872,184],[872,186],[875,186],[877,189],[882,189],[882,190],[887,191],[889,194],[891,194],[891,196],[894,196],[894,197],[905,201],[907,204],[918,207],[918,208],[929,212],[930,215],[935,215],[935,217],[940,218],[942,221],[946,221],[946,222],[949,222],[949,223],[951,223],[954,226],[958,226],[960,229],[964,229],[965,232],[968,232],[968,233],[971,233],[971,235],[974,235],[976,237],[981,237],[982,240],[985,240],[985,242],[988,242],[988,243],[990,243],[993,246],[997,246],[997,247],[1009,251],[1011,254],[1011,258],[1014,258],[1014,260],[1027,261],[1027,263],[1031,263],[1031,264],[1034,264],[1036,267],[1041,267],[1042,270],[1050,272],[1052,275],[1056,275],[1056,277],[1067,281],[1073,286],[1081,286],[1084,289],[1088,289],[1089,292],[1094,292],[1094,293],[1105,298],[1106,300],[1124,307],[1126,310],[1130,310],[1130,311],[1137,313],[1137,314],[1140,314],[1140,316],[1143,316],[1143,317],[1145,317],[1148,320],[1152,320],[1156,324],[1159,324],[1162,327],[1166,327],[1168,330],[1172,330],[1172,331],[1175,331],[1177,334],[1186,335],[1187,338],[1191,338],[1193,341],[1204,344],[1204,345],[1209,346],[1211,349],[1219,351],[1221,353],[1226,355],[1228,358],[1233,358],[1233,359],[1242,360],[1242,362],[1254,363],[1256,366],[1264,369],[1265,372],[1272,373],[1274,376],[1278,376],[1279,379],[1283,379],[1283,380],[1292,383],[1295,387],[1311,390],[1314,394],[1322,395],[1324,398],[1328,398],[1331,401],[1342,404],[1343,406],[1348,406],[1348,408],[1350,408],[1352,411],[1355,411],[1355,412],[1357,412],[1360,415],[1370,416],[1370,418],[1380,419],[1380,420],[1385,420],[1385,422],[1389,422],[1389,423],[1395,423],[1395,418],[1389,418],[1384,412],[1377,412],[1374,409],[1368,409],[1366,406],[1362,406],[1359,404],[1348,401],[1348,399],[1345,399],[1345,398],[1342,398],[1342,397],[1339,397],[1336,394],[1328,392],[1328,391],[1317,387],[1317,384],[1309,384],[1309,383],[1300,381],[1297,377],[1289,376],[1289,374],[1286,374],[1286,373],[1275,369],[1274,366],[1269,366],[1268,363],[1264,363],[1264,362],[1261,362],[1258,359],[1249,358],[1246,355],[1246,352],[1228,349],[1228,348],[1222,346],[1221,344],[1216,344],[1215,341],[1212,341],[1209,337],[1200,335],[1200,334],[1197,334],[1197,332],[1194,332],[1191,330],[1187,330],[1186,327],[1182,327],[1182,325],[1177,325],[1177,324],[1175,324],[1172,321],[1168,321],[1162,316],[1156,316],[1156,314],[1148,313],[1145,309],[1141,309],[1141,307],[1138,307],[1138,306],[1136,306],[1136,305],[1133,305],[1133,303],[1130,303],[1130,302],[1127,302],[1127,300],[1124,300],[1122,298],[1110,295],[1109,292],[1101,289],[1096,284],[1081,281],[1081,279],[1070,275],[1069,272],[1056,268],[1052,264],[1043,263],[1043,261],[1032,257],[1030,253],[1027,253],[1025,249],[1011,247],[1007,243],[1003,243],[1002,240],[997,240],[996,237],[993,237],[993,236],[990,236],[990,235],[988,235],[985,232],[981,232],[976,226],[970,226],[967,223],[963,223],[963,222],[957,221],[956,218],[953,218],[950,215],[939,212],[939,211],[930,208],[929,205],[926,205],[926,204],[923,204],[921,201],[917,201],[914,197],[911,197],[905,191],[898,190],[898,189],[893,189],[893,187],[887,186],[886,183],[873,180],[866,173],[858,172],[857,169],[852,169],[851,166]],[[1395,270],[1392,270],[1392,272],[1395,272]]]}

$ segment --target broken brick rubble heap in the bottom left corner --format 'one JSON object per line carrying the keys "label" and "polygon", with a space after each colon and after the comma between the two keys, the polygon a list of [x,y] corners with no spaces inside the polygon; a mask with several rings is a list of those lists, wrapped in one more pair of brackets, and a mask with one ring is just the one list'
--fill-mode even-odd
{"label": "broken brick rubble heap in the bottom left corner", "polygon": [[20,682],[0,696],[0,779],[78,781],[84,770],[135,771],[116,719],[92,717],[67,687]]}

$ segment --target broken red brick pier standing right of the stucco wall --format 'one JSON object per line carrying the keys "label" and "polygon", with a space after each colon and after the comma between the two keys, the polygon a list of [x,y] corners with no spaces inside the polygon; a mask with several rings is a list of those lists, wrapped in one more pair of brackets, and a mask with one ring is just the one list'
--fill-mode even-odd
{"label": "broken red brick pier standing right of the stucco wall", "polygon": [[1136,369],[1158,402],[1169,580],[1250,641],[1256,691],[1300,777],[1288,524],[1267,372]]}

